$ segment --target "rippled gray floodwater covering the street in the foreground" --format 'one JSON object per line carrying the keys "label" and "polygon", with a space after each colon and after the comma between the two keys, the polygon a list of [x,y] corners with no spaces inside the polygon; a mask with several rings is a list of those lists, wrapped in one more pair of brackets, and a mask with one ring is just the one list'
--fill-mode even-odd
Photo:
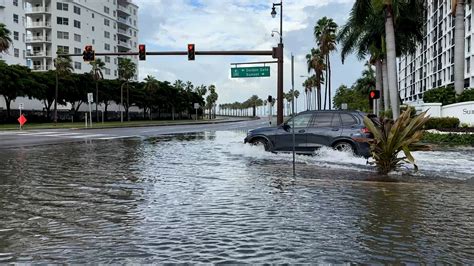
{"label": "rippled gray floodwater covering the street in the foreground", "polygon": [[474,263],[474,151],[366,161],[244,132],[0,152],[0,263]]}

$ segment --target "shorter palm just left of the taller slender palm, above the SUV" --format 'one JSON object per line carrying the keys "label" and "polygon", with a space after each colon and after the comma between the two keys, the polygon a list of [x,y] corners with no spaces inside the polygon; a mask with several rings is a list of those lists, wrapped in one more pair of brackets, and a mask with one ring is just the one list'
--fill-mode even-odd
{"label": "shorter palm just left of the taller slender palm, above the SUV", "polygon": [[321,110],[321,84],[324,83],[323,72],[326,70],[326,64],[324,63],[324,55],[319,49],[311,49],[311,53],[306,55],[306,63],[308,66],[308,73],[314,70],[315,74],[310,77],[312,79],[311,84],[316,87],[317,95],[315,96],[315,102],[317,101],[317,109]]}

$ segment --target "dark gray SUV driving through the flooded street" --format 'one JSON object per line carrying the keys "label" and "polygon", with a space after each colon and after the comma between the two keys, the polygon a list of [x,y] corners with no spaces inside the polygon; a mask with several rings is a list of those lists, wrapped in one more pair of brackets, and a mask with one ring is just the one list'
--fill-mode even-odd
{"label": "dark gray SUV driving through the flooded street", "polygon": [[[367,140],[373,136],[364,126],[366,114],[357,111],[306,111],[295,116],[295,150],[299,154],[313,154],[322,146],[370,157]],[[293,121],[278,127],[250,130],[245,143],[263,145],[272,152],[293,151]]]}

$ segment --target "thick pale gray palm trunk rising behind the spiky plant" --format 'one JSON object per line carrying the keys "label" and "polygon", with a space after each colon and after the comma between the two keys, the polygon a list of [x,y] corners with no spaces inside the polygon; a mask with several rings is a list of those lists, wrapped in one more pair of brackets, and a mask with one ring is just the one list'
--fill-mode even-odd
{"label": "thick pale gray palm trunk rising behind the spiky plant", "polygon": [[393,119],[400,116],[399,92],[397,81],[397,55],[395,52],[395,29],[393,27],[392,7],[387,6],[385,18],[385,35],[387,47],[387,70],[390,102],[392,104]]}

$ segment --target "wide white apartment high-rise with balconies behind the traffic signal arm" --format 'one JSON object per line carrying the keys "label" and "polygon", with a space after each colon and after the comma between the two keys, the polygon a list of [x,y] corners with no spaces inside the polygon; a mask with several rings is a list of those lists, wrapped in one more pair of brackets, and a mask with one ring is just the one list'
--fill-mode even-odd
{"label": "wide white apartment high-rise with balconies behind the traffic signal arm", "polygon": [[[82,53],[91,44],[96,51],[137,50],[138,7],[130,0],[25,0],[28,66],[49,70],[58,50]],[[73,57],[75,72],[91,69],[82,57]],[[118,77],[118,59],[106,56],[104,78]],[[137,58],[133,57],[135,63]]]}

